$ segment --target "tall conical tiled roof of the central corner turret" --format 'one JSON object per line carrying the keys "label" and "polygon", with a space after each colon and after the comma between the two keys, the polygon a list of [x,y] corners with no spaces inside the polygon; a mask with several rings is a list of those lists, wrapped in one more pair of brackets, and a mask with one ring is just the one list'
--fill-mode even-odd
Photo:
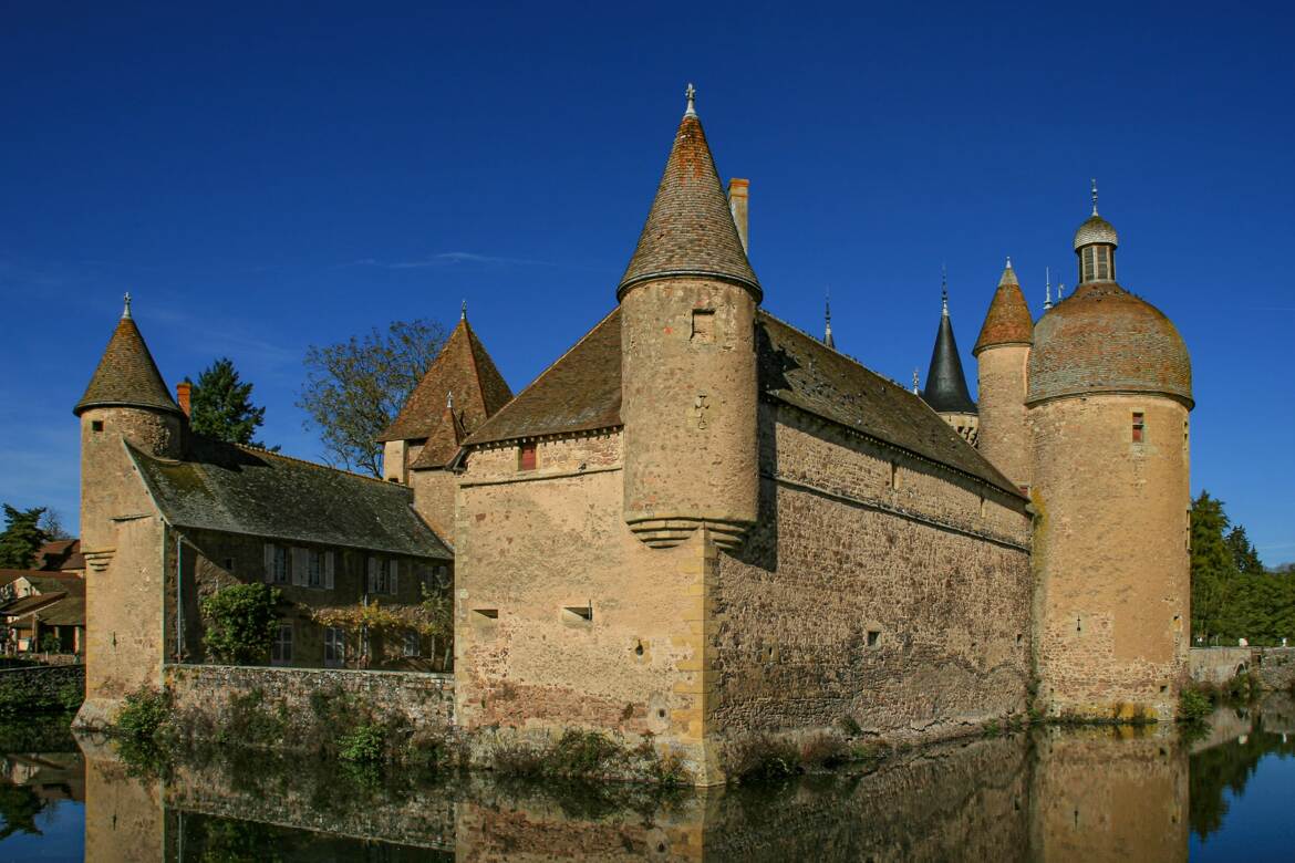
{"label": "tall conical tiled roof of the central corner turret", "polygon": [[760,282],[742,250],[728,197],[695,114],[685,114],[679,124],[657,199],[616,296],[623,296],[638,282],[673,274],[737,282],[750,289],[758,301],[760,299]]}

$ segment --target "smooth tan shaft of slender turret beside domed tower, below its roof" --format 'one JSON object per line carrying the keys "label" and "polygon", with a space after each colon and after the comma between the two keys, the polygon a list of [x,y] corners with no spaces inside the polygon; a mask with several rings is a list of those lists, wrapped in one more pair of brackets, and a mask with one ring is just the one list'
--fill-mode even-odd
{"label": "smooth tan shaft of slender turret beside domed tower, below its roof", "polygon": [[1005,344],[976,356],[980,399],[976,449],[1017,485],[1031,484],[1026,422],[1028,344]]}

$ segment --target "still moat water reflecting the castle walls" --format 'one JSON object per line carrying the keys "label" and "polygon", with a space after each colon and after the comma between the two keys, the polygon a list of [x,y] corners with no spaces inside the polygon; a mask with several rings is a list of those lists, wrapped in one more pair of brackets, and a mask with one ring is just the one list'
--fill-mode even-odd
{"label": "still moat water reflecting the castle walls", "polygon": [[164,778],[0,726],[0,859],[1277,860],[1295,703],[1207,730],[1042,727],[764,785],[657,792],[212,756]]}

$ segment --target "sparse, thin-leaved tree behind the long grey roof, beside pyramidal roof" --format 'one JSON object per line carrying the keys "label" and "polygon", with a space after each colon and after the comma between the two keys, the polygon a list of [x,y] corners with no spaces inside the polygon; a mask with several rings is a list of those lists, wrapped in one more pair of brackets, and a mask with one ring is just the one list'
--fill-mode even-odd
{"label": "sparse, thin-leaved tree behind the long grey roof, beside pyramidal roof", "polygon": [[372,333],[306,351],[306,384],[297,406],[320,432],[325,461],[382,476],[377,442],[445,342],[427,320],[395,321]]}

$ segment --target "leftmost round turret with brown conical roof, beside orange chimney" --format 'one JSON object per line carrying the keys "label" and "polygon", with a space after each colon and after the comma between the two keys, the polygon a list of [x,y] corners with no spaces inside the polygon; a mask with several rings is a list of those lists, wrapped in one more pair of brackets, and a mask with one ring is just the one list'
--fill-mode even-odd
{"label": "leftmost round turret with brown conical roof, beside orange chimney", "polygon": [[131,295],[98,367],[73,413],[80,421],[80,538],[88,552],[114,543],[111,515],[131,471],[122,441],[164,458],[184,449],[184,413],[171,397],[140,329],[131,317]]}

